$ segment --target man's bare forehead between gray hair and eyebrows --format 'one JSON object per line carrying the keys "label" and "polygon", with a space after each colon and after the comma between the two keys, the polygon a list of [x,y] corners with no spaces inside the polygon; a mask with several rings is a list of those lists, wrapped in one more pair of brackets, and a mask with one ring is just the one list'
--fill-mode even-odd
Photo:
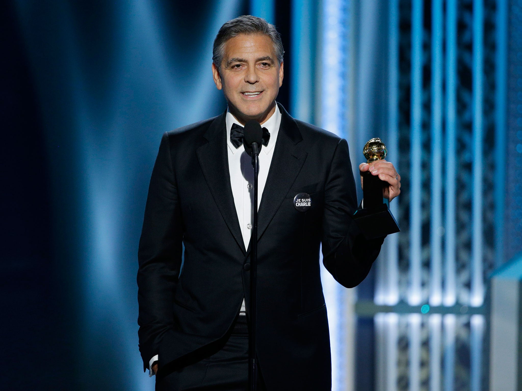
{"label": "man's bare forehead between gray hair and eyebrows", "polygon": [[274,44],[264,34],[239,34],[229,39],[224,45],[224,60],[233,57],[265,57],[274,58]]}

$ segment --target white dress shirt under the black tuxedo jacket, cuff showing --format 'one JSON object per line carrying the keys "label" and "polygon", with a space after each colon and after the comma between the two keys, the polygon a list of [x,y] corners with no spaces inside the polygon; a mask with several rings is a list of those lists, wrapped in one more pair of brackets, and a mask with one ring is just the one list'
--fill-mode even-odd
{"label": "white dress shirt under the black tuxedo jacket, cuff showing", "polygon": [[[243,235],[245,249],[248,248],[250,237],[252,234],[252,225],[254,223],[254,212],[252,204],[254,203],[254,168],[252,167],[252,158],[248,156],[243,145],[235,148],[230,141],[230,129],[232,124],[238,124],[239,121],[227,111],[227,152],[230,172],[230,186],[232,187],[232,195],[234,196],[235,211],[238,214],[239,226]],[[277,135],[279,134],[279,126],[281,125],[281,112],[276,104],[274,114],[268,118],[261,126],[267,128],[270,133],[268,145],[263,145],[259,153],[259,175],[257,176],[257,208],[261,203],[263,190],[265,189],[268,170],[274,155],[274,146],[276,145]],[[241,304],[240,314],[245,314],[245,299]],[[158,360],[158,355],[152,357],[149,361],[149,376],[152,376],[152,363]]]}

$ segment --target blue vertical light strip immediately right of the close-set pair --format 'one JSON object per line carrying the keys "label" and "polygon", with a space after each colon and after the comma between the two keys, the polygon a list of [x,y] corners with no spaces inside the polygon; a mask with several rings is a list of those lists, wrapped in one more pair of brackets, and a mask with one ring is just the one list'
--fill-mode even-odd
{"label": "blue vertical light strip immediately right of the close-set pair", "polygon": [[471,194],[471,306],[483,302],[482,280],[482,66],[484,40],[483,0],[473,0],[473,120],[472,120],[472,194]]}

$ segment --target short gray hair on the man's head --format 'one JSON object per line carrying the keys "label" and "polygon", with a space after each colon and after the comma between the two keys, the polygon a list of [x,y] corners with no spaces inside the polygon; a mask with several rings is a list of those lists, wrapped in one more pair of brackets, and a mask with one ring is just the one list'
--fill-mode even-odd
{"label": "short gray hair on the man's head", "polygon": [[225,43],[234,36],[239,34],[264,34],[268,35],[274,43],[274,52],[276,53],[277,63],[283,62],[283,43],[281,36],[274,25],[271,25],[263,18],[252,15],[243,15],[238,18],[225,22],[218,31],[214,46],[212,48],[212,62],[218,70],[221,70],[221,62],[224,56]]}

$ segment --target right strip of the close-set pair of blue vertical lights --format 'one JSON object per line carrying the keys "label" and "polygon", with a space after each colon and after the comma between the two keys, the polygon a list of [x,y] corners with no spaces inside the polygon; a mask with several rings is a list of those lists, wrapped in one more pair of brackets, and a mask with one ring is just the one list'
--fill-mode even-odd
{"label": "right strip of the close-set pair of blue vertical lights", "polygon": [[444,236],[444,305],[454,306],[456,294],[456,140],[457,140],[457,0],[446,3],[446,180]]}

